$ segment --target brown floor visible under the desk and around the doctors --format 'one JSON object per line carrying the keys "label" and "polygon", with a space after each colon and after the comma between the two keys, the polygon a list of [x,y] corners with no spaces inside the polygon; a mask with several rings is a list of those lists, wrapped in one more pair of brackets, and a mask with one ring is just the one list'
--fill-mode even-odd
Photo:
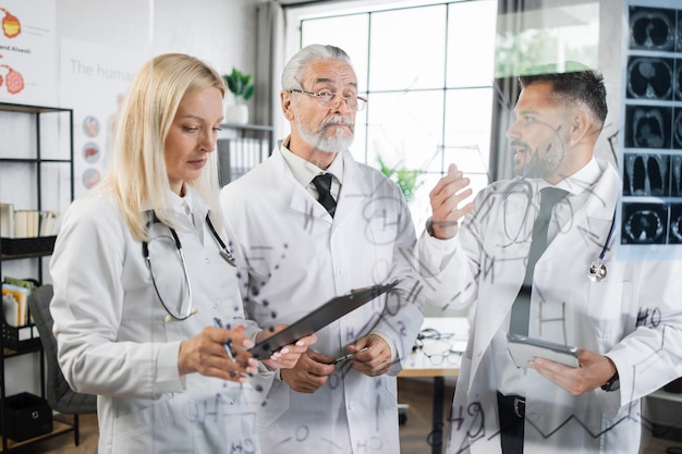
{"label": "brown floor visible under the desk and around the doctors", "polygon": [[[446,385],[444,408],[452,402],[452,386]],[[399,379],[398,401],[410,405],[406,420],[400,426],[401,454],[429,454],[431,431],[431,386],[428,381]],[[666,454],[668,446],[682,446],[682,442],[662,439],[650,439],[642,454]],[[437,450],[438,451],[438,450]],[[17,454],[96,454],[97,453],[97,417],[81,416],[81,444],[74,445],[73,433],[62,434],[12,453]],[[272,454],[272,453],[267,453]],[[391,453],[387,453],[391,454]]]}

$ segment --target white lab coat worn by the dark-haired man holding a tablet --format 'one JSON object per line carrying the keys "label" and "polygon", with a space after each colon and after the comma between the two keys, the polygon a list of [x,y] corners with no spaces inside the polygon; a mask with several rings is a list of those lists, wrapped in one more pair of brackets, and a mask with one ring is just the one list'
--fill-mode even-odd
{"label": "white lab coat worn by the dark-haired man holding a tablet", "polygon": [[[561,226],[536,265],[529,335],[606,354],[618,368],[621,388],[572,396],[528,369],[525,454],[637,453],[640,398],[682,375],[682,287],[673,284],[682,275],[680,263],[617,261],[609,251],[607,277],[601,282],[587,278],[587,265],[608,236],[620,185],[611,165],[598,163],[602,174],[586,188],[592,193],[586,205],[576,208],[573,222]],[[520,186],[509,193],[512,182],[494,183],[477,195],[475,211],[452,240],[451,261],[439,254],[437,240],[419,240],[424,273],[433,273],[426,281],[437,289],[435,300],[449,307],[476,305],[453,400],[449,454],[501,452],[490,342],[509,322],[525,272],[519,260],[528,255],[537,213],[534,203],[524,223],[527,193]],[[647,310],[658,311],[660,319],[649,317],[637,328]],[[543,330],[540,317],[564,319],[565,327],[545,324]]]}

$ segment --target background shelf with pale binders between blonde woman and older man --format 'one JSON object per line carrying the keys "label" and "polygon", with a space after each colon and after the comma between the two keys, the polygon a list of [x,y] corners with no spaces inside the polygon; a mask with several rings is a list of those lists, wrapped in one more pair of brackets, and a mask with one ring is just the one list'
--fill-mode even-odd
{"label": "background shelf with pale binders between blonde woman and older man", "polygon": [[258,124],[221,124],[218,135],[220,185],[242,176],[272,154],[272,126]]}

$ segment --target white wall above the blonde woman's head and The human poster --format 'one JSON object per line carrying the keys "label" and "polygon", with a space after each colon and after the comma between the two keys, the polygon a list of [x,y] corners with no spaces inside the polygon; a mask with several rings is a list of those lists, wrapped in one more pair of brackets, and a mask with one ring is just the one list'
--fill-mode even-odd
{"label": "white wall above the blonde woman's head and The human poster", "polygon": [[59,0],[57,35],[145,60],[184,52],[221,73],[232,66],[254,73],[256,7],[253,0]]}

